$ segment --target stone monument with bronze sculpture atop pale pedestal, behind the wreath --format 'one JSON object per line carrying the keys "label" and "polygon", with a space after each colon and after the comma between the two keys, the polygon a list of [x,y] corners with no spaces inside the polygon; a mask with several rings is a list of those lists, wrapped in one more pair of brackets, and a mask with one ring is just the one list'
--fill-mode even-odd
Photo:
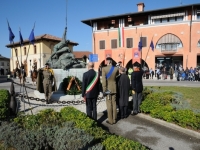
{"label": "stone monument with bronze sculpture atop pale pedestal, behind the wreath", "polygon": [[[50,64],[50,67],[54,71],[56,86],[58,88],[58,90],[52,94],[51,101],[67,101],[81,98],[81,95],[65,95],[64,91],[62,91],[62,82],[63,79],[68,76],[75,76],[79,80],[82,80],[83,73],[87,71],[86,63],[78,61],[69,49],[69,40],[66,40],[66,33],[67,27],[65,28],[61,42],[54,46],[54,51],[47,60],[47,63]],[[44,99],[44,93],[35,90],[34,94],[36,97]]]}

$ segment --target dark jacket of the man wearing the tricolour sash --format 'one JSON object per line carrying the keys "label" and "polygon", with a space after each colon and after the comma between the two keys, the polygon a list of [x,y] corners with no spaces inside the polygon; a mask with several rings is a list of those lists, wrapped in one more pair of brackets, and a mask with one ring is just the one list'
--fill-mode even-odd
{"label": "dark jacket of the man wearing the tricolour sash", "polygon": [[95,86],[92,88],[90,92],[85,94],[87,86],[92,82],[96,75],[96,72],[93,69],[88,70],[83,74],[83,80],[82,80],[82,97],[86,98],[97,98],[100,92],[99,85],[100,85],[100,78],[98,76],[98,81],[95,84]]}

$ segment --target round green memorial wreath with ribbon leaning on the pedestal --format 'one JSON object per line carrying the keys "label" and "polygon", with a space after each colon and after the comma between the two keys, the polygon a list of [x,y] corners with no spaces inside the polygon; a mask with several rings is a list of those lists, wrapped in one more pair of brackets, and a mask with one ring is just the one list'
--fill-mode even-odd
{"label": "round green memorial wreath with ribbon leaning on the pedestal", "polygon": [[82,82],[75,76],[68,76],[63,79],[62,88],[66,95],[81,94]]}

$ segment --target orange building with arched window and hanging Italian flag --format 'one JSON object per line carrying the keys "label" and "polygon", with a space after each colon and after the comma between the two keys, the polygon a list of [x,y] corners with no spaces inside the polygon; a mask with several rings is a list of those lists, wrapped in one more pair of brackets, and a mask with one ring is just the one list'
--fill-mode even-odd
{"label": "orange building with arched window and hanging Italian flag", "polygon": [[137,7],[138,12],[82,21],[93,27],[93,53],[99,57],[95,69],[104,64],[108,55],[116,63],[132,66],[140,41],[140,63],[149,69],[159,65],[200,65],[200,4],[151,11],[144,11],[144,3]]}

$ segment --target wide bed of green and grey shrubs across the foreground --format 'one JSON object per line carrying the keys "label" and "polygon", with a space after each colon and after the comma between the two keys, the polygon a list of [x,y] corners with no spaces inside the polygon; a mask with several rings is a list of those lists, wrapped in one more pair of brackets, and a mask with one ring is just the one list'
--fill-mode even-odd
{"label": "wide bed of green and grey shrubs across the foreground", "polygon": [[0,125],[0,133],[4,148],[147,149],[138,142],[110,134],[73,107],[65,107],[60,112],[46,109],[36,115],[20,115],[14,122]]}

